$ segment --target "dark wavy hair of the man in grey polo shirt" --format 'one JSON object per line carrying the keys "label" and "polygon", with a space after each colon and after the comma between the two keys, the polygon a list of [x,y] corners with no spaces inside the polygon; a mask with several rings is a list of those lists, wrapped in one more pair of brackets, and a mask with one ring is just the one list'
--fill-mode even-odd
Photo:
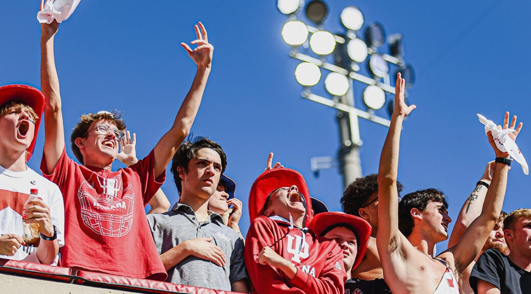
{"label": "dark wavy hair of the man in grey polo shirt", "polygon": [[179,194],[181,194],[183,187],[177,167],[181,166],[183,167],[184,172],[188,172],[188,164],[190,163],[190,160],[195,158],[196,152],[202,148],[210,148],[219,154],[219,157],[221,157],[221,175],[225,172],[225,168],[227,167],[227,156],[223,149],[221,149],[221,146],[204,137],[196,137],[195,139],[192,139],[192,135],[190,135],[188,140],[184,141],[183,144],[179,146],[172,161],[171,171]]}

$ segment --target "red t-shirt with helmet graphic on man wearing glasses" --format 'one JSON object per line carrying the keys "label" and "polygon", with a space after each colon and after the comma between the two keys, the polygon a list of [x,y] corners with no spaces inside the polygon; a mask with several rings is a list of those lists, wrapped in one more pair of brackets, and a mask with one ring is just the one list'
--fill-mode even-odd
{"label": "red t-shirt with helmet graphic on man wearing glasses", "polygon": [[166,179],[155,178],[155,155],[109,172],[75,163],[63,149],[53,173],[42,156],[41,172],[56,183],[65,204],[62,266],[164,281],[145,206]]}

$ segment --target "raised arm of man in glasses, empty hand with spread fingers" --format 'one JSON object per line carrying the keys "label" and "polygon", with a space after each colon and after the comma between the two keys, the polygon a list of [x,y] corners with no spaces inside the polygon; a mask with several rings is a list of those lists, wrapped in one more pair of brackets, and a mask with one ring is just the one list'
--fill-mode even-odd
{"label": "raised arm of man in glasses, empty hand with spread fingers", "polygon": [[214,47],[208,42],[207,30],[201,22],[194,28],[197,39],[190,44],[197,44],[198,47],[192,50],[186,43],[181,43],[181,46],[198,66],[197,73],[190,91],[181,104],[172,128],[162,136],[155,146],[155,175],[157,176],[165,170],[179,145],[190,133],[210,75]]}

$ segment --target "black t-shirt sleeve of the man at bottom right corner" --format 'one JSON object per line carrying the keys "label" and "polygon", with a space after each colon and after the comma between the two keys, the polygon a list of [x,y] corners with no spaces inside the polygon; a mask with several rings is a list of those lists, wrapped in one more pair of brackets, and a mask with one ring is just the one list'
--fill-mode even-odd
{"label": "black t-shirt sleeve of the man at bottom right corner", "polygon": [[477,294],[477,281],[489,282],[500,289],[500,277],[504,271],[503,256],[496,250],[487,250],[477,260],[470,273],[470,287]]}

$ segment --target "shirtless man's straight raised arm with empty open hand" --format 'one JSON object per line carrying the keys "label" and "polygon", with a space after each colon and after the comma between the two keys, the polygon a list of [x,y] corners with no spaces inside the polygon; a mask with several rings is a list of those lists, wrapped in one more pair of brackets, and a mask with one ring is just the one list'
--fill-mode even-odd
{"label": "shirtless man's straight raised arm with empty open hand", "polygon": [[395,86],[395,110],[391,115],[391,125],[387,133],[380,157],[378,171],[378,233],[376,246],[382,262],[384,257],[389,260],[393,251],[397,250],[404,235],[398,229],[398,154],[400,150],[400,132],[404,118],[416,108],[404,102],[405,80],[397,75]]}

